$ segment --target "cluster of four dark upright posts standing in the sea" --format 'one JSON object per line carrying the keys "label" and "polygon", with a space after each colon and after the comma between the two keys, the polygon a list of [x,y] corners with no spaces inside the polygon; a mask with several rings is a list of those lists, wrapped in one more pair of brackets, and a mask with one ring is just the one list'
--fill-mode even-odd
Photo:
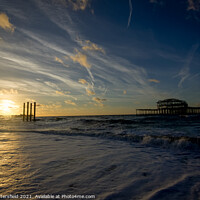
{"label": "cluster of four dark upright posts standing in the sea", "polygon": [[[30,112],[29,112],[30,111]],[[32,114],[33,111],[33,114]],[[33,117],[33,121],[36,121],[36,102],[32,103],[24,103],[23,104],[23,121],[32,121],[32,117]]]}

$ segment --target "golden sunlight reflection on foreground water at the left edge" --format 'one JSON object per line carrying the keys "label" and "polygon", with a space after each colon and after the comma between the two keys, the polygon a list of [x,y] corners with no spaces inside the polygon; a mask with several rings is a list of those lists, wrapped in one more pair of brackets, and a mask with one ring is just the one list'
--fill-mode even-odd
{"label": "golden sunlight reflection on foreground water at the left edge", "polygon": [[29,166],[26,155],[21,152],[20,135],[1,133],[0,135],[0,188],[1,194],[14,194],[25,177]]}

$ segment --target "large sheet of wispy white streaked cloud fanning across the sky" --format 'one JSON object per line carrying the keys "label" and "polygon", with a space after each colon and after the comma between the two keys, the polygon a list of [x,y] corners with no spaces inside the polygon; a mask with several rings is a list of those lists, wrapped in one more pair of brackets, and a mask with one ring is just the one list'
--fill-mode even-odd
{"label": "large sheet of wispy white streaked cloud fanning across the sky", "polygon": [[[13,72],[9,75],[14,74],[16,71],[21,75],[14,81],[9,81],[12,77],[5,81],[3,75],[0,75],[1,85],[11,84],[10,88],[22,88],[24,93],[48,95],[55,99],[69,98],[72,103],[77,100],[76,97],[78,97],[78,100],[83,101],[91,98],[93,103],[95,102],[101,106],[105,101],[104,96],[105,98],[112,96],[112,99],[119,97],[120,102],[120,97],[126,93],[123,90],[130,86],[128,95],[140,93],[147,96],[150,92],[154,92],[148,82],[147,71],[135,65],[134,61],[114,56],[112,48],[108,48],[109,51],[105,53],[105,46],[98,42],[97,44],[90,40],[82,40],[82,43],[78,42],[77,35],[86,39],[87,35],[81,35],[83,32],[78,26],[78,20],[74,20],[76,19],[74,14],[70,15],[70,13],[73,13],[72,11],[65,12],[66,7],[60,5],[55,9],[52,5],[45,3],[46,1],[34,2],[37,5],[39,4],[37,7],[46,16],[50,24],[49,27],[55,27],[59,31],[50,32],[51,29],[48,28],[44,32],[42,29],[38,31],[34,27],[31,30],[28,27],[27,29],[18,28],[24,39],[23,43],[10,44],[9,49],[0,49],[0,57],[3,55],[4,66],[9,64],[9,69]],[[66,0],[66,2],[68,1]],[[73,2],[77,3],[78,1]],[[69,4],[67,6],[69,7]],[[12,47],[16,48],[15,51],[12,50]],[[19,48],[20,51],[18,51]],[[77,50],[73,54],[74,48]],[[52,62],[53,59],[61,65]],[[65,62],[73,67],[62,67]],[[83,79],[80,79],[80,77]],[[70,90],[72,95],[76,96],[73,97],[64,93],[65,89]],[[21,93],[21,89],[19,90]],[[87,95],[90,95],[90,97]],[[93,95],[103,98],[94,97]],[[124,101],[124,97],[122,101]]]}

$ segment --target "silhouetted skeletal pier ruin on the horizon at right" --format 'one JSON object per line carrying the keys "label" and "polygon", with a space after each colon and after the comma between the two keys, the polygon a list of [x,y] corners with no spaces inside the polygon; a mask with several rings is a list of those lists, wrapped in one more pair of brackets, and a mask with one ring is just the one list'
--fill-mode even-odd
{"label": "silhouetted skeletal pier ruin on the horizon at right", "polygon": [[165,99],[157,102],[156,109],[136,109],[136,115],[192,115],[200,114],[200,107],[189,107],[186,101]]}

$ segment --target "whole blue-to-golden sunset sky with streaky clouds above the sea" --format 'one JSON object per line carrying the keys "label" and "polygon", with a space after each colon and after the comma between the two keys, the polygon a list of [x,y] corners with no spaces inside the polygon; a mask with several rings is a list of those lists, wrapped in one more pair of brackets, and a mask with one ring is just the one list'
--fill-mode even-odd
{"label": "whole blue-to-golden sunset sky with streaky clouds above the sea", "polygon": [[0,115],[200,106],[200,0],[1,0]]}

